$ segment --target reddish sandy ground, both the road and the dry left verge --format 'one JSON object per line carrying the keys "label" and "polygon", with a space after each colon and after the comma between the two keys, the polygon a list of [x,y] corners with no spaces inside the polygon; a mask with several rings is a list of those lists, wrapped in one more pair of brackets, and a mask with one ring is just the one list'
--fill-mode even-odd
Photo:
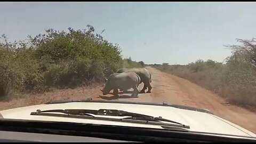
{"label": "reddish sandy ground, both the road and the dry left verge", "polygon": [[[118,99],[112,94],[102,95],[101,85],[92,87],[79,87],[77,89],[53,90],[44,94],[28,94],[18,99],[0,102],[0,110],[37,105],[55,99],[82,99],[91,97],[95,100],[120,100],[141,102],[163,102],[204,108],[215,115],[227,119],[239,126],[256,133],[256,114],[229,105],[227,102],[208,90],[189,82],[186,79],[166,74],[155,68],[147,67],[153,77],[151,93],[139,94],[139,98],[131,98],[130,93],[120,93]],[[141,90],[143,84],[139,85]]]}

